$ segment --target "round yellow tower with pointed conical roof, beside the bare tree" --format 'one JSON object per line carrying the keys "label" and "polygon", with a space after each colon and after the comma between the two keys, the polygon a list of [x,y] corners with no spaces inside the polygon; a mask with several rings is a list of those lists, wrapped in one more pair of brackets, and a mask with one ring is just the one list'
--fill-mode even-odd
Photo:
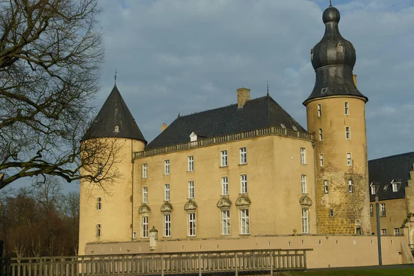
{"label": "round yellow tower with pointed conical roof, beside the bare tree", "polygon": [[[116,172],[103,188],[88,181],[81,182],[79,210],[79,255],[85,252],[86,244],[101,242],[128,242],[132,240],[132,152],[144,150],[146,140],[132,117],[128,106],[115,85],[97,117],[83,137],[82,143],[108,146],[106,150],[116,152],[115,159],[103,157],[96,170],[104,177],[106,172]],[[110,148],[113,146],[114,148]],[[99,177],[98,177],[99,178]]]}

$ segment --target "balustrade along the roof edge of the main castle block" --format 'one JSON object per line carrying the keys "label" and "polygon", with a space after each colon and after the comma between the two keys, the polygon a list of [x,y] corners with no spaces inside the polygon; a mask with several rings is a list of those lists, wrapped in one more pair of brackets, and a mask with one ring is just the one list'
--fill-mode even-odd
{"label": "balustrade along the roof edge of the main castle block", "polygon": [[260,128],[258,130],[250,130],[250,131],[239,132],[239,133],[234,133],[230,135],[210,137],[210,138],[200,139],[198,141],[176,144],[172,146],[166,146],[163,148],[154,148],[152,150],[134,152],[134,159],[146,157],[150,155],[160,155],[160,154],[164,154],[167,152],[188,150],[190,148],[197,148],[200,146],[210,146],[213,144],[226,143],[228,141],[237,141],[240,139],[248,139],[248,138],[260,137],[260,136],[266,136],[266,135],[294,137],[297,139],[313,141],[313,135],[307,132],[299,132],[297,130],[290,130],[287,128],[277,128],[277,127],[272,126],[270,128]]}

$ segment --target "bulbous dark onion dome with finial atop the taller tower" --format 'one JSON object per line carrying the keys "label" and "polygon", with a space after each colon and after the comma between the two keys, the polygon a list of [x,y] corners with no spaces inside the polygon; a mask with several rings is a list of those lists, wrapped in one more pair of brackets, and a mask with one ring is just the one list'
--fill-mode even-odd
{"label": "bulbous dark onion dome with finial atop the taller tower", "polygon": [[340,19],[339,10],[331,5],[322,15],[325,34],[311,50],[312,66],[316,73],[315,87],[304,101],[305,105],[312,99],[339,95],[361,97],[368,101],[353,81],[357,55],[352,43],[339,33]]}

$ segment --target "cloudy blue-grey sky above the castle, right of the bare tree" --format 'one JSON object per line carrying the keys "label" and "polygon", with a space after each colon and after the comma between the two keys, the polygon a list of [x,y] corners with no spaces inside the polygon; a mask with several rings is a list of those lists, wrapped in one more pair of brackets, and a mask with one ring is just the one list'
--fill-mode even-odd
{"label": "cloudy blue-grey sky above the castle, right of the bare tree", "polygon": [[[237,103],[237,88],[270,96],[306,128],[302,102],[315,84],[311,48],[329,1],[101,0],[106,59],[99,109],[114,85],[146,140],[178,113]],[[414,1],[333,0],[339,30],[357,51],[368,97],[368,159],[413,151]]]}

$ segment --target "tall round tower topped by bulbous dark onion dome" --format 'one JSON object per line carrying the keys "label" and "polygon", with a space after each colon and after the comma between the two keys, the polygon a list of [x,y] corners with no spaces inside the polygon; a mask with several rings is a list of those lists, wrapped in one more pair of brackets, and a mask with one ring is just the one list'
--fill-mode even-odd
{"label": "tall round tower topped by bulbous dark onion dome", "polygon": [[355,48],[339,33],[339,10],[322,17],[325,34],[311,50],[315,87],[304,101],[315,136],[317,232],[371,233],[365,103],[353,79]]}

